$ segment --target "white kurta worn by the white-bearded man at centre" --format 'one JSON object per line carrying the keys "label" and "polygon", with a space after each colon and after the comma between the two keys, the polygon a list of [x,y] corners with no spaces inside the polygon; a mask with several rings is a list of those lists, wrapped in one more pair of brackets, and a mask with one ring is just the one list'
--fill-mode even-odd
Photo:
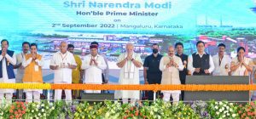
{"label": "white kurta worn by the white-bearded man at centre", "polygon": [[[141,62],[143,64],[143,61],[140,57],[140,54],[136,54],[133,53],[135,60]],[[118,63],[121,62],[122,60],[124,60],[125,54],[120,54],[119,55],[119,59],[118,59]],[[127,61],[126,63],[131,64],[131,60]],[[125,78],[125,66],[121,68],[120,72],[119,72],[119,84],[140,84],[139,81],[139,68],[137,68],[135,66],[134,69],[134,77],[132,79],[127,79]],[[140,99],[140,91],[139,90],[134,90],[134,91],[115,91],[114,94],[114,98],[115,99]]]}

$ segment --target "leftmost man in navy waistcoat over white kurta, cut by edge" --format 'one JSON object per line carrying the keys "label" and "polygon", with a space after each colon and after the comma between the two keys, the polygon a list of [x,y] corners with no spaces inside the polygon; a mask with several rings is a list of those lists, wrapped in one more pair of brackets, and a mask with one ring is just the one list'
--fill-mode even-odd
{"label": "leftmost man in navy waistcoat over white kurta, cut by edge", "polygon": [[[9,42],[5,39],[1,41],[1,47],[2,50],[0,50],[0,60],[2,63],[2,77],[0,77],[0,82],[15,83],[15,73],[12,67],[12,65],[16,65],[14,51],[8,50]],[[12,101],[13,93],[15,93],[15,89],[0,89],[0,102],[2,103],[2,99],[5,94],[5,98],[7,99],[8,103],[10,103]]]}

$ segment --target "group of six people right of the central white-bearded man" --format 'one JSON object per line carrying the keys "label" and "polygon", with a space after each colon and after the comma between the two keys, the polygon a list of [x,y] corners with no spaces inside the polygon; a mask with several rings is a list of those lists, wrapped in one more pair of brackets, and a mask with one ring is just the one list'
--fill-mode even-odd
{"label": "group of six people right of the central white-bearded man", "polygon": [[[153,54],[146,57],[143,64],[145,84],[185,84],[187,75],[248,76],[253,71],[252,60],[245,57],[245,48],[237,48],[233,59],[225,54],[224,43],[218,44],[218,54],[211,56],[205,52],[205,42],[196,43],[197,52],[183,54],[183,43],[177,42],[168,48],[166,56],[159,54],[159,45],[152,45]],[[175,54],[176,50],[176,54]],[[183,91],[161,91],[163,100],[174,102],[184,99]],[[154,93],[148,92],[148,99],[154,99]]]}

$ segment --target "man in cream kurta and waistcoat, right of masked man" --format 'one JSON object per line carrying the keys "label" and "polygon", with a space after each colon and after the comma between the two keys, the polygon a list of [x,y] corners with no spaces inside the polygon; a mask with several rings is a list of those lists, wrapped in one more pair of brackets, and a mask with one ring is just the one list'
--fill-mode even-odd
{"label": "man in cream kurta and waistcoat, right of masked man", "polygon": [[[179,80],[179,71],[183,71],[183,61],[179,57],[175,55],[174,48],[170,46],[168,48],[168,55],[162,57],[160,60],[160,71],[162,71],[162,85],[167,84],[181,84]],[[169,101],[172,95],[172,99],[174,102],[179,100],[179,94],[181,94],[180,90],[172,90],[167,91],[163,90],[164,101]]]}

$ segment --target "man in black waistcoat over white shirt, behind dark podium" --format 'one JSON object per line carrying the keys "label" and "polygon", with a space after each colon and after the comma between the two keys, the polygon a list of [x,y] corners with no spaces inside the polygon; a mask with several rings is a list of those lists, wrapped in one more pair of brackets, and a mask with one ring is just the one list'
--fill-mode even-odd
{"label": "man in black waistcoat over white shirt, behind dark podium", "polygon": [[188,69],[192,75],[211,75],[214,64],[211,54],[205,52],[205,42],[196,42],[197,52],[189,55]]}

